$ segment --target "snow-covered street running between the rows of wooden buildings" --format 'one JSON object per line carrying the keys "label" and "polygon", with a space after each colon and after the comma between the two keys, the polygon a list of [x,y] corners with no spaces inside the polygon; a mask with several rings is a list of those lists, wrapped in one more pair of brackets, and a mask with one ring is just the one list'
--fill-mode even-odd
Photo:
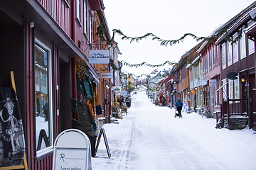
{"label": "snow-covered street running between the rows of wooden buildings", "polygon": [[154,106],[145,92],[119,124],[105,124],[92,169],[256,169],[256,135],[251,129],[215,129],[215,119],[198,113],[174,118],[174,109]]}

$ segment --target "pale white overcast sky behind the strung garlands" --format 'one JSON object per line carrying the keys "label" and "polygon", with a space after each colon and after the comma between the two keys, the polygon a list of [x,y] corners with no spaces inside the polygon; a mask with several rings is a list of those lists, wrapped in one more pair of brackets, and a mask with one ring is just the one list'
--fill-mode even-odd
{"label": "pale white overcast sky behind the strung garlands", "polygon": [[[146,33],[153,33],[164,40],[176,40],[185,33],[193,33],[207,37],[220,25],[229,21],[240,13],[253,0],[104,0],[107,25],[112,35],[113,29],[122,30],[124,35],[139,37]],[[186,51],[191,50],[198,42],[186,38],[176,45],[161,46],[160,42],[147,38],[130,43],[121,40],[116,35],[114,40],[122,55],[119,61],[129,64],[147,62],[161,64],[166,61],[178,62]],[[151,67],[123,67],[122,69],[135,74],[149,74],[154,69],[169,69],[165,65],[161,68]]]}

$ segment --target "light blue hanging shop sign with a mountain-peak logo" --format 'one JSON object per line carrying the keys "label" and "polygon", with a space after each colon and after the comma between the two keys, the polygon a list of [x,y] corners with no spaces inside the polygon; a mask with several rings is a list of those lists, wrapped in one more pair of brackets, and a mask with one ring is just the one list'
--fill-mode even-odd
{"label": "light blue hanging shop sign with a mountain-peak logo", "polygon": [[110,50],[90,50],[89,63],[90,64],[109,64]]}

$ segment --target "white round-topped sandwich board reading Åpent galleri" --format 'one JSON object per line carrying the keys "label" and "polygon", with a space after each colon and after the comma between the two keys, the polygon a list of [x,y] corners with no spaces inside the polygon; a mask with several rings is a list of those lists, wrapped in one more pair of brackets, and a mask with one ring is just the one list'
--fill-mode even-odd
{"label": "white round-topped sandwich board reading \u00c5pent galleri", "polygon": [[53,148],[53,169],[92,169],[90,140],[84,132],[68,129],[58,135]]}

